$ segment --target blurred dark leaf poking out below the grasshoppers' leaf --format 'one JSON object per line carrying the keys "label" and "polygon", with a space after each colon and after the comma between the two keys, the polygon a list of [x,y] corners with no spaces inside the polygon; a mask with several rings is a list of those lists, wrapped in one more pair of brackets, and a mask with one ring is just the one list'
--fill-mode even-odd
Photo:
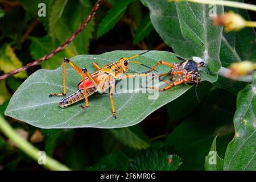
{"label": "blurred dark leaf poking out below the grasshoppers' leaf", "polygon": [[150,147],[150,139],[138,125],[110,129],[109,131],[115,138],[117,138],[117,140],[119,140],[119,142],[122,142],[129,147],[137,148],[139,150]]}

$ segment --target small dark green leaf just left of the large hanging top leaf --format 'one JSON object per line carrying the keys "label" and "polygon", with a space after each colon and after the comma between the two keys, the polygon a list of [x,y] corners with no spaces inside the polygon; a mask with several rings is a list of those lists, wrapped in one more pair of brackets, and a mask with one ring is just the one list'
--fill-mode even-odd
{"label": "small dark green leaf just left of the large hanging top leaf", "polygon": [[146,15],[143,20],[141,21],[141,24],[139,25],[139,28],[134,36],[133,43],[138,44],[146,38],[150,33],[154,30],[154,27],[152,26],[150,16]]}

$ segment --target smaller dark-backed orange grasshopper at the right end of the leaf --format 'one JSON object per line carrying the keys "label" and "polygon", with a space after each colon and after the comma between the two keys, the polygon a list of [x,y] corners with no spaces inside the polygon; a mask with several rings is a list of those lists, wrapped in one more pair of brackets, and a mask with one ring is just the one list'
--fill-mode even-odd
{"label": "smaller dark-backed orange grasshopper at the right end of the leaf", "polygon": [[[197,58],[197,57],[195,57]],[[181,63],[174,63],[170,64],[166,61],[158,61],[154,67],[152,67],[149,71],[144,72],[144,74],[152,72],[159,64],[167,65],[168,67],[171,67],[170,72],[163,73],[161,75],[158,75],[159,80],[166,82],[168,85],[164,88],[158,89],[159,91],[168,90],[176,85],[180,84],[199,84],[201,78],[199,73],[199,67],[202,67],[205,65],[204,61],[199,61],[196,63],[192,60],[184,60],[181,57],[177,57],[177,59],[181,60]],[[198,58],[197,58],[198,59]],[[160,77],[163,76],[170,76],[170,81],[173,80],[174,76],[176,76],[176,80],[174,82],[170,82],[164,79],[160,79]],[[150,87],[151,89],[155,89],[154,87]]]}

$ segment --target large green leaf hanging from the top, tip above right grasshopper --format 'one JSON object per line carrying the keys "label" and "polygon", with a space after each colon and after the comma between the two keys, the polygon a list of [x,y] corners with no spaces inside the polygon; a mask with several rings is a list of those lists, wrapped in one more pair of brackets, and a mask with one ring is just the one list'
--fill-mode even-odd
{"label": "large green leaf hanging from the top, tip above right grasshopper", "polygon": [[[151,22],[168,46],[183,57],[199,56],[208,64],[211,73],[221,67],[220,45],[222,27],[214,27],[210,7],[191,2],[141,0],[150,10]],[[217,6],[217,14],[223,13]]]}

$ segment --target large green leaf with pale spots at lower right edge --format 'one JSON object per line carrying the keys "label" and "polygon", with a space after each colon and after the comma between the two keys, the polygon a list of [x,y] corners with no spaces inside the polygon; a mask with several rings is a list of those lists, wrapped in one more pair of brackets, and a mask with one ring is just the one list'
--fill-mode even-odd
{"label": "large green leaf with pale spots at lower right edge", "polygon": [[237,97],[235,137],[226,149],[224,170],[256,170],[256,74]]}

